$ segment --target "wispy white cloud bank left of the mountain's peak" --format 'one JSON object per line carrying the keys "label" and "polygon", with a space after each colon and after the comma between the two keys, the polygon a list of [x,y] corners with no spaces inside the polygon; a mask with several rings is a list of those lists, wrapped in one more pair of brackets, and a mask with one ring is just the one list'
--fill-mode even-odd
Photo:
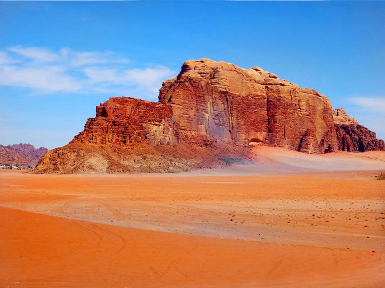
{"label": "wispy white cloud bank left of the mountain's peak", "polygon": [[112,51],[53,51],[42,47],[0,50],[0,86],[30,88],[38,93],[117,93],[155,98],[166,66],[138,68]]}

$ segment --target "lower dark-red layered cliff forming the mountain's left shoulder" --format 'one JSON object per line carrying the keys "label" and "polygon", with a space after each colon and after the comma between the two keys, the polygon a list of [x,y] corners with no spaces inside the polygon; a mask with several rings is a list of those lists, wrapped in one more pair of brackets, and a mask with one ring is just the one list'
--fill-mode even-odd
{"label": "lower dark-red layered cliff forming the mountain's left shoulder", "polygon": [[176,143],[172,134],[172,107],[129,97],[113,97],[96,107],[84,131],[71,143]]}

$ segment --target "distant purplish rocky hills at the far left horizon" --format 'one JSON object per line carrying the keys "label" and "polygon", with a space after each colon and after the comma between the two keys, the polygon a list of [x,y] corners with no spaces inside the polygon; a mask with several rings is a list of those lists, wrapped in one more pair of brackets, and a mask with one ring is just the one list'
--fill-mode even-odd
{"label": "distant purplish rocky hills at the far left horizon", "polygon": [[45,147],[37,149],[31,144],[0,145],[0,165],[36,166],[47,151]]}

